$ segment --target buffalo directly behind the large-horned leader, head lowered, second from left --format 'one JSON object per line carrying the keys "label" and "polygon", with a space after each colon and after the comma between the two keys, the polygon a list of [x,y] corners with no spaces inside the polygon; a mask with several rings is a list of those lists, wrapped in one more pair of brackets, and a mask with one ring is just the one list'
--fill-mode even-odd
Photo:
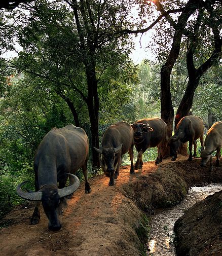
{"label": "buffalo directly behind the large-horned leader, head lowered, second from left", "polygon": [[114,178],[119,175],[122,155],[129,152],[130,174],[134,173],[133,166],[133,129],[126,122],[110,125],[102,136],[100,149],[94,149],[102,154],[102,169],[110,177],[109,186],[114,185]]}

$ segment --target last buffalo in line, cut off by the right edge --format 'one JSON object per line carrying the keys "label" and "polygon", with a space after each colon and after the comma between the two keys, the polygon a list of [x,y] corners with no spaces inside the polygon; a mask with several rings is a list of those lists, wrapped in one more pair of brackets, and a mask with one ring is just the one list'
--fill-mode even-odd
{"label": "last buffalo in line, cut off by the right edge", "polygon": [[213,124],[207,132],[205,139],[205,150],[201,152],[201,166],[205,167],[210,160],[211,171],[213,169],[211,154],[216,151],[216,166],[219,166],[220,149],[222,147],[222,122],[216,122]]}

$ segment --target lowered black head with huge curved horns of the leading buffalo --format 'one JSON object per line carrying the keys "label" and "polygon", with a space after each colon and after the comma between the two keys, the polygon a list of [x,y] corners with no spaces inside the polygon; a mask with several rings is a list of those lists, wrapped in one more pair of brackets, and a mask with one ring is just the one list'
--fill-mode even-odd
{"label": "lowered black head with huge curved horns of the leading buffalo", "polygon": [[41,186],[38,192],[24,192],[21,190],[21,187],[27,182],[23,181],[21,184],[17,186],[17,194],[26,200],[31,201],[42,201],[44,211],[49,220],[49,229],[52,231],[58,231],[61,229],[60,223],[60,213],[61,213],[61,202],[65,202],[65,196],[70,195],[74,191],[76,191],[80,186],[80,180],[76,175],[71,173],[66,173],[73,178],[75,178],[75,182],[63,189],[58,189],[54,184],[46,184]]}

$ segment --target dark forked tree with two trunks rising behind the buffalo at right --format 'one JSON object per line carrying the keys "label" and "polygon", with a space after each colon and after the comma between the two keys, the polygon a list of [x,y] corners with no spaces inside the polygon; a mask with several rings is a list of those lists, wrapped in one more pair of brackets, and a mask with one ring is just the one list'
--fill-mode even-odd
{"label": "dark forked tree with two trunks rising behind the buffalo at right", "polygon": [[[169,9],[168,2],[161,3],[159,0],[155,0],[154,4],[156,5],[157,10],[162,14],[166,13],[166,8]],[[176,19],[172,18],[170,15],[165,16],[166,20],[170,24],[170,27],[174,29],[174,32],[172,32],[169,27],[167,27],[167,29],[170,30],[173,34],[173,37],[167,60],[161,68],[161,117],[168,125],[169,136],[172,134],[172,124],[174,117],[174,109],[170,90],[170,78],[172,69],[180,53],[180,46],[183,40],[183,36],[186,36],[189,39],[189,49],[187,53],[189,82],[177,111],[175,125],[183,116],[188,115],[192,106],[194,92],[199,84],[201,74],[203,74],[203,72],[205,72],[216,59],[218,59],[219,52],[221,51],[221,39],[219,38],[218,34],[218,25],[221,25],[221,20],[216,18],[216,14],[218,15],[219,10],[221,10],[216,7],[221,7],[221,3],[214,0],[189,0],[186,4],[179,3],[178,6],[182,12],[178,17],[176,17]],[[190,19],[190,17],[192,17],[192,19]],[[201,23],[203,18],[205,22]],[[212,57],[210,57],[210,59],[206,61],[203,66],[200,66],[198,71],[196,71],[192,59],[197,49],[201,49],[200,43],[204,42],[204,34],[201,33],[200,29],[201,25],[207,25],[211,28],[211,30],[208,29],[208,32],[213,32],[214,34],[214,39],[211,40],[211,42],[214,43],[215,47],[212,51]],[[199,40],[196,40],[197,36],[199,36]]]}

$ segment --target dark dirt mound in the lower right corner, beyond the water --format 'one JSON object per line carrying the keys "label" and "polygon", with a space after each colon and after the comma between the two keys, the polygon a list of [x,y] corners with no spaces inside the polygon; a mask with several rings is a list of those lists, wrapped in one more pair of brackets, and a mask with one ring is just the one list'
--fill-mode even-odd
{"label": "dark dirt mound in the lower right corner, beyond the water", "polygon": [[188,209],[175,223],[180,256],[222,254],[222,190]]}

